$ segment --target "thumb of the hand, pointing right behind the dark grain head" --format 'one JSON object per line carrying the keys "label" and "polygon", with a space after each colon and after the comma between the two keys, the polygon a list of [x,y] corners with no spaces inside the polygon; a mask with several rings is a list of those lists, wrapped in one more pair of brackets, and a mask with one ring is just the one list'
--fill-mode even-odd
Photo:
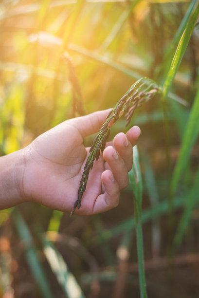
{"label": "thumb of the hand, pointing right behind the dark grain head", "polygon": [[98,132],[106,121],[106,117],[111,109],[94,112],[86,116],[73,118],[68,120],[70,124],[77,128],[82,137],[88,136],[92,133]]}

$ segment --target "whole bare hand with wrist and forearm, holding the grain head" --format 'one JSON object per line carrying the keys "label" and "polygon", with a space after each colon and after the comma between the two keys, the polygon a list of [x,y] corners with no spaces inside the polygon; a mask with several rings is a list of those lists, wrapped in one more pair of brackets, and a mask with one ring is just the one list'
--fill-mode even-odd
{"label": "whole bare hand with wrist and forearm, holding the grain head", "polygon": [[[0,157],[0,208],[37,202],[71,212],[89,149],[83,139],[98,132],[109,110],[67,120],[38,136],[29,146]],[[108,211],[119,204],[120,189],[128,185],[132,146],[139,127],[118,133],[107,143],[90,171],[81,208],[75,214]]]}

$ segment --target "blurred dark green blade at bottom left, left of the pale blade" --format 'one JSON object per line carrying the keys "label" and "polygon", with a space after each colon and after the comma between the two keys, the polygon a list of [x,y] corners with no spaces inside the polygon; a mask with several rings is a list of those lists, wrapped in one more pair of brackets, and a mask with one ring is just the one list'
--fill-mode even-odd
{"label": "blurred dark green blade at bottom left, left of the pale blade", "polygon": [[21,241],[26,244],[26,260],[31,268],[34,278],[36,279],[42,297],[53,298],[54,296],[49,282],[37,256],[34,240],[17,207],[12,213],[12,219],[15,223]]}

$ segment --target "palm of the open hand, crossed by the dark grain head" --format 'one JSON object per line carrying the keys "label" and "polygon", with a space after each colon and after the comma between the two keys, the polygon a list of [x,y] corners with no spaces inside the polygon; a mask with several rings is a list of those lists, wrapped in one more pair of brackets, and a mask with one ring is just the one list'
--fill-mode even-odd
{"label": "palm of the open hand, crossed by the dark grain head", "polygon": [[[71,126],[65,126],[62,130],[61,126],[62,124],[57,126],[57,130],[49,130],[31,144],[31,157],[34,162],[31,197],[34,201],[52,208],[56,206],[56,209],[63,210],[66,206],[64,209],[71,211],[89,149],[85,149],[79,130]],[[88,181],[81,208],[83,212],[90,213],[94,200],[101,193],[103,170],[104,162],[101,157],[95,163]],[[28,184],[29,175],[30,173],[26,173],[25,183]]]}

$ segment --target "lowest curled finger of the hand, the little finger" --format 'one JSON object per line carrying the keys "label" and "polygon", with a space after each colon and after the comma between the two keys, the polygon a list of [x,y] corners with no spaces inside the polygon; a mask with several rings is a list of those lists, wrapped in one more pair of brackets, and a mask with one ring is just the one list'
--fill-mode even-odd
{"label": "lowest curled finger of the hand, the little finger", "polygon": [[114,179],[112,172],[110,170],[104,171],[101,179],[106,191],[97,197],[93,206],[93,214],[108,211],[119,204],[119,185]]}

